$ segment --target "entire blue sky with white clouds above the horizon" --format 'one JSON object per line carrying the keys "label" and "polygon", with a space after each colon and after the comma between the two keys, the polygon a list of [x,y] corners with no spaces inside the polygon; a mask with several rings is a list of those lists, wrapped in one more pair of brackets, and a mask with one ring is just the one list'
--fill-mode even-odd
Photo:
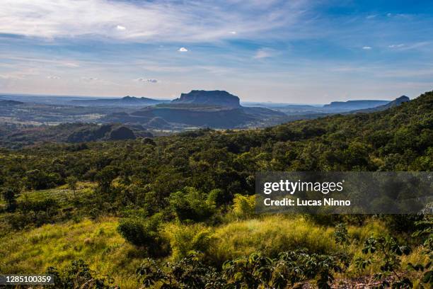
{"label": "entire blue sky with white clouds above the horizon", "polygon": [[328,103],[433,90],[433,1],[0,0],[0,93]]}

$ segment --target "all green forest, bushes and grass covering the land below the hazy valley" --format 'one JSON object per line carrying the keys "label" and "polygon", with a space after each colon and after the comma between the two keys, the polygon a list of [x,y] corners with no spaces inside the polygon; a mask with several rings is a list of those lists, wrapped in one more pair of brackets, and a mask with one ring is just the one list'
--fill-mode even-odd
{"label": "all green forest, bushes and grass covering the land below the hazy valley", "polygon": [[429,212],[256,215],[254,193],[258,171],[432,169],[433,91],[272,128],[4,148],[0,272],[53,288],[431,288]]}

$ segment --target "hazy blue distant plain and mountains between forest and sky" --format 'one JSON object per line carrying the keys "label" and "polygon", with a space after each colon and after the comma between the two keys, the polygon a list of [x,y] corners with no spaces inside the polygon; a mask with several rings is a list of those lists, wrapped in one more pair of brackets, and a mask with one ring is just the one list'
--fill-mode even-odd
{"label": "hazy blue distant plain and mountains between forest and sky", "polygon": [[[227,91],[192,90],[173,101],[146,97],[90,98],[0,94],[0,121],[20,125],[122,123],[157,133],[192,128],[263,128],[335,113],[368,113],[398,106],[395,101],[333,101],[324,106],[248,103]],[[80,137],[79,137],[80,139]]]}

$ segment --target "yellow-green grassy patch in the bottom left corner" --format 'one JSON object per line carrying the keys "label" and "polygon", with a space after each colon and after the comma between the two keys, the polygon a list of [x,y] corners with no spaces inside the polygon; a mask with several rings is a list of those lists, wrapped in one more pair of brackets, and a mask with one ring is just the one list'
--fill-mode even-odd
{"label": "yellow-green grassy patch in the bottom left corner", "polygon": [[83,259],[100,276],[113,276],[121,288],[137,288],[134,270],[142,252],[125,243],[116,227],[115,218],[104,218],[14,232],[0,239],[0,271],[43,273],[49,266],[63,268]]}

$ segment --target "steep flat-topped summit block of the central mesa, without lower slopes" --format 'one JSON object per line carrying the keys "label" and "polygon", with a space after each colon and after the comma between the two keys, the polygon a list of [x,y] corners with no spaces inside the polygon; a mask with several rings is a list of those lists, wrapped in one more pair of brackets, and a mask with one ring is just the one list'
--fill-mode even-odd
{"label": "steep flat-topped summit block of the central mesa, without lower slopes", "polygon": [[173,104],[196,104],[226,106],[231,108],[240,108],[241,103],[238,96],[233,96],[227,91],[203,91],[192,90],[188,94],[180,94],[180,98],[171,101]]}

